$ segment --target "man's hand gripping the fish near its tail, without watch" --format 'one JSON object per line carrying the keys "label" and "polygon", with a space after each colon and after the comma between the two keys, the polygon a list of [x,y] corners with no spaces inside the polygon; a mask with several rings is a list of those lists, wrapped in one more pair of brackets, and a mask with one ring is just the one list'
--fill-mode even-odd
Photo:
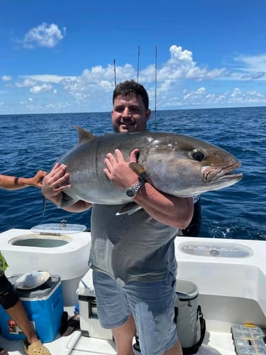
{"label": "man's hand gripping the fish near its tail, without watch", "polygon": [[70,174],[66,173],[66,170],[66,165],[55,163],[55,166],[52,168],[50,173],[45,175],[43,178],[43,195],[55,204],[61,203],[61,192],[71,187],[71,185],[67,182]]}

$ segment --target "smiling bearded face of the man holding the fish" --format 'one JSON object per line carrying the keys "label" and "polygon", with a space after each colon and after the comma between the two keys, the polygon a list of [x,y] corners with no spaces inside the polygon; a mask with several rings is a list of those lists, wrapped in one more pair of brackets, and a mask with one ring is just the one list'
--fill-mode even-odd
{"label": "smiling bearded face of the man holding the fish", "polygon": [[115,132],[145,131],[150,118],[150,110],[145,110],[143,99],[140,96],[118,96],[113,102],[111,117]]}

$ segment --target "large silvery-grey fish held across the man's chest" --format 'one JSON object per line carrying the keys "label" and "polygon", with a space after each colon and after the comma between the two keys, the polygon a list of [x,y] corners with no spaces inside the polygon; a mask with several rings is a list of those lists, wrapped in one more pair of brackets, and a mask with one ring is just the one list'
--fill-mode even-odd
{"label": "large silvery-grey fish held across the man's chest", "polygon": [[120,149],[126,160],[138,148],[138,163],[131,168],[157,190],[189,197],[219,190],[238,182],[243,175],[231,174],[240,162],[230,153],[199,139],[165,132],[110,133],[94,136],[75,126],[79,143],[58,160],[70,173],[62,207],[84,200],[96,204],[127,204],[131,198],[104,174],[107,153]]}

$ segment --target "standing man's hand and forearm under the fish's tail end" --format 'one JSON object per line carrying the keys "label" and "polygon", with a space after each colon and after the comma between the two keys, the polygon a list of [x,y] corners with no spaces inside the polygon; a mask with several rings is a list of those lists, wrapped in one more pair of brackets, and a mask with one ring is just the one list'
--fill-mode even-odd
{"label": "standing man's hand and forearm under the fish's tail end", "polygon": [[[50,173],[43,179],[43,195],[57,206],[60,206],[62,202],[62,192],[71,187],[71,185],[67,183],[70,174],[66,173],[66,170],[66,165],[55,163]],[[64,207],[63,209],[68,212],[83,212],[91,206],[92,204],[80,200],[72,204],[72,206]]]}

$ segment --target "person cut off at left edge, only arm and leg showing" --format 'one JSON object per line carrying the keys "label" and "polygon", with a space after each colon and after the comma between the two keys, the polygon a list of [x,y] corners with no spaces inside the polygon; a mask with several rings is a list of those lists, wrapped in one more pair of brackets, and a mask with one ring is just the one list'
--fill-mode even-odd
{"label": "person cut off at left edge, only arm and leg showing", "polygon": [[[0,187],[7,190],[18,190],[27,186],[40,188],[45,174],[45,171],[39,170],[33,178],[16,178],[15,176],[0,175]],[[50,355],[50,351],[38,339],[31,322],[28,320],[21,300],[14,293],[11,283],[4,274],[7,266],[4,256],[2,256],[0,251],[0,303],[26,335],[26,341],[23,343],[25,353],[29,355]],[[0,348],[0,355],[8,354],[5,349]]]}

